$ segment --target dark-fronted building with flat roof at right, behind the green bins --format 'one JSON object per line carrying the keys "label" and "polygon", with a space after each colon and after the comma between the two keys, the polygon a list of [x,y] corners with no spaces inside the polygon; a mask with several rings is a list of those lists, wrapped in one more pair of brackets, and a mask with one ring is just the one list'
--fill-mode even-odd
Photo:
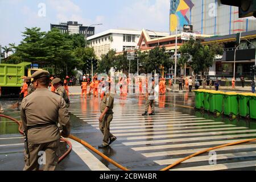
{"label": "dark-fronted building with flat roof at right, behind the green bins", "polygon": [[[209,69],[210,77],[225,77],[231,80],[234,73],[236,77],[245,77],[246,80],[250,80],[254,77],[253,73],[250,71],[250,67],[255,65],[256,56],[256,30],[249,32],[242,32],[241,43],[236,51],[236,61],[234,61],[234,53],[236,49],[237,35],[224,35],[224,36],[213,36],[212,38],[206,38],[203,44],[212,43],[223,43],[224,44],[224,54],[216,57],[213,67]],[[247,42],[247,40],[250,42]]]}

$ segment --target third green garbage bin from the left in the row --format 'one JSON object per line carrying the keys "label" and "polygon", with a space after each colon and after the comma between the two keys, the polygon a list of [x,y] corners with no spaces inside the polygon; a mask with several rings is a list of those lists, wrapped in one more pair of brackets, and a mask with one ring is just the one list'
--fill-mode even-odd
{"label": "third green garbage bin from the left in the row", "polygon": [[214,114],[222,113],[223,94],[221,91],[214,91],[209,93],[209,111]]}

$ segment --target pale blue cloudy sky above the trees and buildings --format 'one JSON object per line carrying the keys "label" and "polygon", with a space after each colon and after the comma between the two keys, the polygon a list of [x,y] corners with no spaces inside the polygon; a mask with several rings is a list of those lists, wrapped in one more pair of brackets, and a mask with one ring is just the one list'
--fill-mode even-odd
{"label": "pale blue cloudy sky above the trees and buildings", "polygon": [[[45,8],[44,8],[45,7]],[[168,32],[170,0],[0,0],[0,44],[16,45],[25,27],[49,31],[50,24],[69,20],[110,28]]]}

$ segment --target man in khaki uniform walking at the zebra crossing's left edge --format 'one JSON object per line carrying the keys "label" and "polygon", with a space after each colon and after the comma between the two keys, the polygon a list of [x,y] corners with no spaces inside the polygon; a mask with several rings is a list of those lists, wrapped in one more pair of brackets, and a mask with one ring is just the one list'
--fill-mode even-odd
{"label": "man in khaki uniform walking at the zebra crossing's left edge", "polygon": [[108,147],[117,138],[110,133],[110,122],[113,119],[113,107],[114,107],[114,96],[110,94],[110,84],[108,88],[105,88],[104,97],[100,104],[101,116],[98,119],[99,128],[104,135],[103,142],[98,148]]}

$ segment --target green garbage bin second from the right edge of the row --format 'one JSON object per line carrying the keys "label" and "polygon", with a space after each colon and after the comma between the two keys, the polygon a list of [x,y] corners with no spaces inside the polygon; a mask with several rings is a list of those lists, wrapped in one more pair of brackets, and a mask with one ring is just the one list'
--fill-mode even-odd
{"label": "green garbage bin second from the right edge of the row", "polygon": [[241,117],[249,118],[250,117],[250,108],[249,100],[250,93],[238,93],[238,105],[239,105],[239,114]]}

